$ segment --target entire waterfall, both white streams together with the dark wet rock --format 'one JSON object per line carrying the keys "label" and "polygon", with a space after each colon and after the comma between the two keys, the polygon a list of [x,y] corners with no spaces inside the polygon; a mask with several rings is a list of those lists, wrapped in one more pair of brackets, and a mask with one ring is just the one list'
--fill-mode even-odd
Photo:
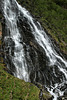
{"label": "entire waterfall, both white streams together with the dark wet rock", "polygon": [[55,50],[40,23],[16,0],[3,0],[3,49],[9,72],[41,83],[57,100],[67,88],[67,61]]}

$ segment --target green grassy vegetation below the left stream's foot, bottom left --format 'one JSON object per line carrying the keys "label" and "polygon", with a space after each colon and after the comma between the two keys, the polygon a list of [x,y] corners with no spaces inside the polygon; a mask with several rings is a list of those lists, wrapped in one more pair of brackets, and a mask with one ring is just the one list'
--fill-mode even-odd
{"label": "green grassy vegetation below the left stream's foot, bottom left", "polygon": [[0,100],[39,100],[39,89],[31,83],[17,79],[0,64]]}

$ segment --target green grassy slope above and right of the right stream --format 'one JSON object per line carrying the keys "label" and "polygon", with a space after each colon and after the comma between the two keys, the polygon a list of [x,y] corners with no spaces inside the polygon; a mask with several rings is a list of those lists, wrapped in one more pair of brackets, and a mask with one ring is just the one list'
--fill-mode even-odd
{"label": "green grassy slope above and right of the right stream", "polygon": [[[26,7],[67,54],[67,9],[66,0],[17,0]],[[58,1],[58,2],[57,2]]]}

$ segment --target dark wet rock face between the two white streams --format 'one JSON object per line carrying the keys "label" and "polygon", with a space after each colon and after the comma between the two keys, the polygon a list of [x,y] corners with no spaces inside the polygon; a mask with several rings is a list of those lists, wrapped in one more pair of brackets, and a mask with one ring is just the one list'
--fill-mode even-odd
{"label": "dark wet rock face between the two white streams", "polygon": [[[49,62],[45,51],[40,47],[31,33],[28,20],[21,16],[18,17],[17,25],[22,35],[22,40],[25,43],[23,45],[31,82],[39,82],[41,84],[47,84],[48,86],[60,82],[63,77],[62,72],[57,69],[57,66],[48,66]],[[53,67],[57,77],[53,73]]]}

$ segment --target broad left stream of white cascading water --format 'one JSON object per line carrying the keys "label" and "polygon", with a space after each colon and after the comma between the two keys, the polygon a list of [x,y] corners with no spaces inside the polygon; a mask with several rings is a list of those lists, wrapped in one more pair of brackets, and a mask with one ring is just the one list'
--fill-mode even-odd
{"label": "broad left stream of white cascading water", "polygon": [[10,29],[10,35],[6,36],[5,40],[12,38],[15,43],[15,52],[14,56],[12,56],[12,62],[16,66],[14,76],[29,81],[27,64],[24,56],[23,45],[20,43],[21,35],[17,27],[16,16],[16,13],[12,11],[10,0],[4,0],[4,17],[6,19],[6,25],[8,25],[8,30]]}

